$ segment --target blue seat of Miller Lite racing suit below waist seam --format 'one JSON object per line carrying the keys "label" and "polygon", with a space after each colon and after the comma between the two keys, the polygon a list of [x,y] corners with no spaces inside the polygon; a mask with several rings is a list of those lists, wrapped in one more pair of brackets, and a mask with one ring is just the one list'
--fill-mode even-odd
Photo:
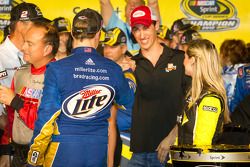
{"label": "blue seat of Miller Lite racing suit below waist seam", "polygon": [[78,142],[60,142],[53,167],[106,167],[107,142],[100,143],[92,136],[84,138]]}

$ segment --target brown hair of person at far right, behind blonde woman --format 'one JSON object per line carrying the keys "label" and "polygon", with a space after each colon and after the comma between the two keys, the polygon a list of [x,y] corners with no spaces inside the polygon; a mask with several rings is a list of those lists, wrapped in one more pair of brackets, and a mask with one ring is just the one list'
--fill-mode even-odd
{"label": "brown hair of person at far right, behind blonde woman", "polygon": [[248,50],[244,41],[236,39],[225,40],[220,47],[223,60],[228,59],[232,65],[247,63]]}

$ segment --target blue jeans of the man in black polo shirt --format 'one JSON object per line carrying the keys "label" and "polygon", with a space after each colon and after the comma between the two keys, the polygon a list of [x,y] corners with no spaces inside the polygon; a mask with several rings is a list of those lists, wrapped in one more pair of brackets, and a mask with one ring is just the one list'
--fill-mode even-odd
{"label": "blue jeans of the man in black polo shirt", "polygon": [[133,153],[128,163],[128,167],[164,167],[157,158],[157,152],[153,153]]}

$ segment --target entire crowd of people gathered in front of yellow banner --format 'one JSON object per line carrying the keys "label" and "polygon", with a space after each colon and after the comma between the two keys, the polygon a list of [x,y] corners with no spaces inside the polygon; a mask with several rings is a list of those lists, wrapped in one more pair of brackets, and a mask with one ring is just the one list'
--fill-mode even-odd
{"label": "entire crowd of people gathered in front of yellow banner", "polygon": [[172,166],[173,145],[235,144],[223,141],[225,125],[249,133],[244,41],[226,39],[218,52],[186,18],[169,29],[158,0],[126,0],[126,21],[110,0],[100,6],[72,21],[49,20],[33,3],[11,10],[0,167],[119,166],[120,132],[130,133],[129,167]]}

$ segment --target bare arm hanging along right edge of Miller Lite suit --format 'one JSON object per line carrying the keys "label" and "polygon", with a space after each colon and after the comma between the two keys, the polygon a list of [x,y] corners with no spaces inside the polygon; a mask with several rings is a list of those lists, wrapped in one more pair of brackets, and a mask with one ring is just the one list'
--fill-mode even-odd
{"label": "bare arm hanging along right edge of Miller Lite suit", "polygon": [[109,118],[108,129],[108,167],[113,167],[116,147],[116,114],[117,108],[113,105],[110,109],[111,116]]}

